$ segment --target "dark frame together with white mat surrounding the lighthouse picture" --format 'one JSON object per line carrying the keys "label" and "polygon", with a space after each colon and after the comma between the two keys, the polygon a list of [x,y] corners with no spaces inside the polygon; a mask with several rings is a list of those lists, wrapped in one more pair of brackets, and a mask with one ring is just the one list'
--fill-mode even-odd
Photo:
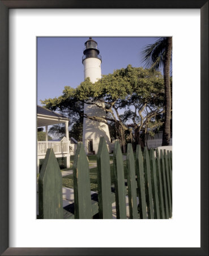
{"label": "dark frame together with white mat surrounding the lighthouse picture", "polygon": [[[208,255],[208,1],[1,1],[0,7],[1,254]],[[172,12],[177,14],[174,23],[170,21]],[[153,26],[155,17],[159,22]],[[137,24],[140,32],[134,34]],[[180,132],[173,146],[176,187],[170,222],[36,220],[35,194],[31,193],[35,190],[31,170],[36,168],[32,135],[36,123],[36,36],[91,33],[173,36],[173,52],[182,55],[173,57],[178,113],[174,113],[174,127]],[[21,143],[20,136],[24,138]],[[19,154],[26,141],[30,146],[22,163]]]}

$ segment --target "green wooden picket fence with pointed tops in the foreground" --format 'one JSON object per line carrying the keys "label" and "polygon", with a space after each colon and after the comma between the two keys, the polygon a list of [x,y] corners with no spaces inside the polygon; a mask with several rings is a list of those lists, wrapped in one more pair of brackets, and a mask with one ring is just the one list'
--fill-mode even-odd
{"label": "green wooden picket fence with pointed tops in the foreground", "polygon": [[118,142],[113,152],[114,185],[110,178],[109,152],[104,137],[100,138],[97,154],[96,199],[92,199],[89,166],[82,143],[78,144],[73,164],[73,214],[62,207],[62,175],[53,149],[48,149],[39,176],[39,218],[113,218],[112,203],[116,204],[116,217],[129,218],[172,217],[172,151],[150,150],[142,152],[137,145],[136,157],[131,144],[127,144],[127,181]]}

